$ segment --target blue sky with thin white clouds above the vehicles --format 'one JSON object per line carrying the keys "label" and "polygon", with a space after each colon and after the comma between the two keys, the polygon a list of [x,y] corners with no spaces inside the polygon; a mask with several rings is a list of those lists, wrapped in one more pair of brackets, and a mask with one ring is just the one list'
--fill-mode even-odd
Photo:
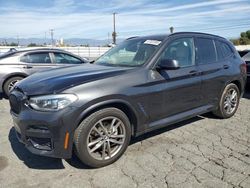
{"label": "blue sky with thin white clouds above the vehicles", "polygon": [[250,29],[250,0],[0,0],[0,38],[107,39],[199,31],[226,38]]}

